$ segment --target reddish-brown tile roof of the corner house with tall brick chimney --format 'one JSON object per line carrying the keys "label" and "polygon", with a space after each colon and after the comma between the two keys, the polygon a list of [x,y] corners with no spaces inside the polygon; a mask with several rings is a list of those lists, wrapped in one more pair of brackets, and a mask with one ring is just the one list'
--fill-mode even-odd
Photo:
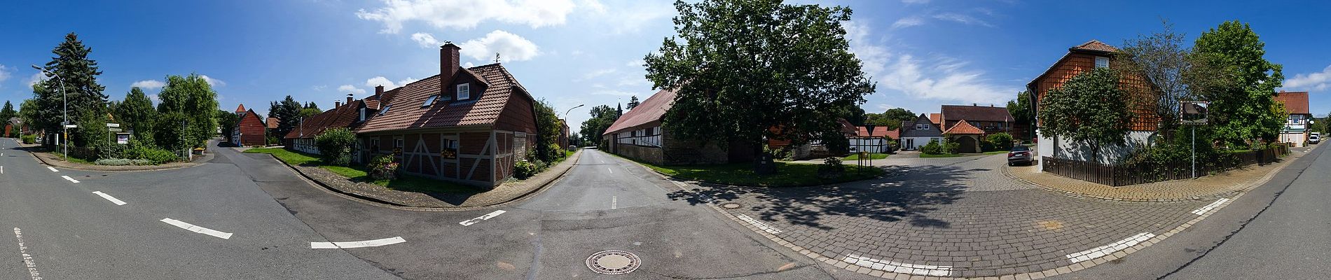
{"label": "reddish-brown tile roof of the corner house with tall brick chimney", "polygon": [[[379,97],[379,111],[387,113],[375,115],[366,121],[357,133],[387,131],[418,127],[445,127],[445,126],[471,126],[492,125],[508,104],[508,97],[518,96],[531,98],[527,89],[518,84],[518,80],[499,64],[488,64],[462,69],[459,74],[467,73],[480,82],[484,89],[480,97],[470,101],[439,100],[430,106],[421,106],[430,96],[439,94],[439,76],[407,84],[405,86],[383,92]],[[475,100],[478,98],[478,100]]]}

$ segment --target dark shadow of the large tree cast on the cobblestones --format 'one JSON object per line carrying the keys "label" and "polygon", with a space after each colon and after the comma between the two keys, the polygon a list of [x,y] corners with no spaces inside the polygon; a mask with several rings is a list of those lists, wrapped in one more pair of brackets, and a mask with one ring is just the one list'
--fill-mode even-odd
{"label": "dark shadow of the large tree cast on the cobblestones", "polygon": [[928,214],[952,204],[965,192],[970,171],[957,166],[886,166],[888,174],[904,175],[816,187],[741,187],[697,183],[692,191],[667,194],[689,204],[737,203],[764,220],[784,220],[832,230],[828,220],[869,218],[908,222],[914,227],[950,228],[946,220]]}

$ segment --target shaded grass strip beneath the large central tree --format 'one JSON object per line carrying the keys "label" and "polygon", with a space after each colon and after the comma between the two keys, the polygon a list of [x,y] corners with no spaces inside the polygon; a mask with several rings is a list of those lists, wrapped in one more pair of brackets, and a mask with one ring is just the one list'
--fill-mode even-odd
{"label": "shaded grass strip beneath the large central tree", "polygon": [[753,163],[711,166],[654,166],[643,162],[639,163],[671,176],[737,186],[799,187],[862,180],[882,175],[881,169],[870,167],[861,170],[857,166],[849,165],[845,166],[845,174],[840,178],[821,179],[817,176],[819,165],[807,163],[776,162],[776,174],[773,175],[753,174]]}

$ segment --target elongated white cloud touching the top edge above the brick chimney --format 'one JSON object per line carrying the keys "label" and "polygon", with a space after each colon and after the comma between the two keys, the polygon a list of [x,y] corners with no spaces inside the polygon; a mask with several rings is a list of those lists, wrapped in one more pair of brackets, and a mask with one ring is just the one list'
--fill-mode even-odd
{"label": "elongated white cloud touching the top edge above the brick chimney", "polygon": [[564,24],[574,7],[571,0],[383,0],[383,7],[355,16],[383,23],[381,33],[398,33],[409,21],[439,29],[469,29],[491,20],[540,28]]}

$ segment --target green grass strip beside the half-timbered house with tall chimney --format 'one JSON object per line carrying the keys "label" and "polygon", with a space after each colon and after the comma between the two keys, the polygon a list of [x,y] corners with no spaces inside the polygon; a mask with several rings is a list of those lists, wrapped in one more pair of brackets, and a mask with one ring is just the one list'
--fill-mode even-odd
{"label": "green grass strip beside the half-timbered house with tall chimney", "polygon": [[337,175],[346,176],[353,182],[369,182],[373,184],[379,184],[390,190],[398,191],[411,191],[411,192],[442,192],[442,194],[475,194],[480,190],[458,184],[447,180],[435,180],[429,178],[413,176],[413,175],[398,175],[398,179],[393,180],[374,180],[370,179],[370,173],[365,166],[334,166],[325,165],[317,155],[305,154],[299,151],[290,151],[281,147],[258,147],[249,149],[245,153],[254,154],[272,154],[277,159],[286,162],[293,166],[318,166],[327,171],[335,173]]}

